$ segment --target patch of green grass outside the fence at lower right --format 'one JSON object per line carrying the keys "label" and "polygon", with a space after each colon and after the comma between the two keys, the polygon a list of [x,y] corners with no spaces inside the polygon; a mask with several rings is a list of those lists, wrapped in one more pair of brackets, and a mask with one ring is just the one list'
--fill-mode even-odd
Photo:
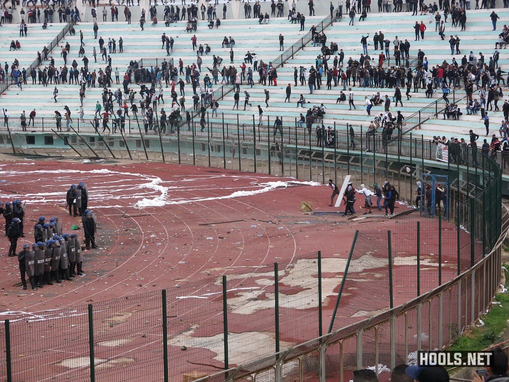
{"label": "patch of green grass outside the fence at lower right", "polygon": [[[508,265],[503,264],[507,269]],[[504,270],[505,287],[509,287],[509,272]],[[500,305],[491,305],[488,314],[481,317],[483,326],[475,327],[460,336],[448,350],[482,350],[501,340],[500,333],[507,326],[509,318],[509,292],[497,293],[495,302]]]}

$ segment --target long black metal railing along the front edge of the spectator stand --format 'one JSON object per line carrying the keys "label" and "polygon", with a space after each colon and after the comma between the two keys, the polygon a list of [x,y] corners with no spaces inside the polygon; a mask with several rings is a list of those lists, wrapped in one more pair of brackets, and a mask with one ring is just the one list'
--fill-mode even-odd
{"label": "long black metal railing along the front edge of the spectator stand", "polygon": [[[9,119],[9,128],[13,135],[21,130],[19,118]],[[30,121],[27,120],[27,123]],[[78,133],[94,134],[99,137],[97,130],[94,127],[94,120],[79,120],[74,119],[71,127]],[[34,118],[33,123],[27,126],[28,132],[47,132],[52,133],[62,132],[63,135],[75,135],[72,129],[67,130],[66,120],[62,120],[60,128],[56,127],[54,118]],[[366,128],[361,125],[360,131],[350,132],[350,125],[338,125],[334,123],[333,128],[326,129],[323,125],[318,125],[316,129],[308,129],[305,127],[283,126],[275,128],[272,125],[258,125],[256,123],[223,123],[223,122],[206,122],[201,124],[197,121],[190,122],[174,122],[173,125],[169,121],[161,123],[158,119],[153,119],[152,122],[137,119],[128,119],[125,121],[126,138],[130,135],[139,136],[139,132],[145,131],[145,136],[150,138],[158,138],[159,134],[162,137],[173,137],[177,140],[195,140],[195,139],[208,139],[208,140],[229,140],[242,143],[263,143],[270,146],[279,145],[280,147],[291,146],[299,149],[307,149],[310,151],[321,151],[322,149],[329,148],[334,150],[342,150],[346,152],[358,152],[360,156],[372,155],[372,153],[382,153],[387,156],[395,156],[403,160],[405,157],[423,160],[440,160],[437,158],[437,144],[432,140],[425,139],[422,134],[410,134],[400,136],[398,134],[387,135],[382,133],[367,134]],[[105,139],[116,137],[111,136],[111,133],[120,132],[120,124],[115,124],[113,120],[108,124],[111,131],[102,131],[102,125],[99,127],[99,133]],[[203,131],[202,131],[203,129]],[[4,124],[0,126],[0,131],[6,131],[7,126]],[[30,133],[26,133],[30,135]],[[330,138],[329,138],[330,137]],[[28,140],[27,140],[28,142]],[[24,147],[30,147],[30,144]],[[480,148],[474,146],[472,149],[467,149],[465,146],[458,147],[457,152],[461,153],[465,150],[472,150],[473,153],[478,152],[479,155],[489,155],[495,162],[498,163],[503,171],[503,174],[509,175],[509,153],[482,151]],[[470,147],[470,146],[467,146]],[[367,152],[366,152],[367,151]],[[454,150],[449,153],[454,153]],[[450,154],[453,155],[453,154]],[[461,154],[457,155],[462,158]],[[331,158],[332,159],[332,158]],[[464,159],[458,159],[462,163]],[[452,162],[456,162],[453,159]]]}

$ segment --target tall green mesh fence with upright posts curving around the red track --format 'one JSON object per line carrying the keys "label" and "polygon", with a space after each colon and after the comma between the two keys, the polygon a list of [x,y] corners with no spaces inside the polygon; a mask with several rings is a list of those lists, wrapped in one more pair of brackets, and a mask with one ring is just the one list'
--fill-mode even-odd
{"label": "tall green mesh fence with upright posts curving around the red track", "polygon": [[219,127],[161,143],[169,145],[166,161],[176,163],[314,181],[349,174],[357,187],[388,180],[400,193],[397,212],[414,203],[416,181],[426,186],[430,175],[444,175],[446,208],[435,217],[425,209],[398,217],[390,233],[366,225],[348,259],[313,253],[6,320],[0,380],[347,381],[353,370],[374,367],[386,381],[388,369],[412,363],[417,350],[447,346],[486,310],[508,227],[492,158],[458,146],[439,162],[437,147],[422,137],[391,142],[335,131],[326,148],[307,130],[284,130],[277,143],[270,130],[252,129],[244,146],[240,125],[228,139]]}

